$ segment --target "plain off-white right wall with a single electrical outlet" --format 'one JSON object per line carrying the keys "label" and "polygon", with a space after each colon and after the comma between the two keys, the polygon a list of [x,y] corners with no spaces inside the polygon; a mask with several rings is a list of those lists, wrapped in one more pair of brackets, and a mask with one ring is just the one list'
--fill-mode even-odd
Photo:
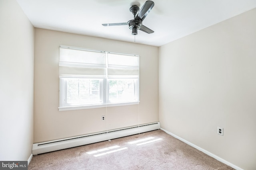
{"label": "plain off-white right wall with a single electrical outlet", "polygon": [[163,129],[255,170],[255,102],[256,9],[160,47]]}

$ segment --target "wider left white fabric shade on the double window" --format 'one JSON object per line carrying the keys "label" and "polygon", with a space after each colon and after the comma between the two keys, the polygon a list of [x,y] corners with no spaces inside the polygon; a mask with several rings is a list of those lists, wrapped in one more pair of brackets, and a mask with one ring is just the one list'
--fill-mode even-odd
{"label": "wider left white fabric shade on the double window", "polygon": [[106,55],[104,52],[71,49],[60,46],[60,75],[106,75]]}

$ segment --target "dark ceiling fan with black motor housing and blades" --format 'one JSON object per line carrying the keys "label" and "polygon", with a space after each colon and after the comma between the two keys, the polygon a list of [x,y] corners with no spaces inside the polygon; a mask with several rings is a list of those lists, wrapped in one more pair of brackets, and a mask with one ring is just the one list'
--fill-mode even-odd
{"label": "dark ceiling fan with black motor housing and blades", "polygon": [[149,29],[148,27],[142,25],[142,21],[146,18],[148,13],[152,10],[154,6],[154,2],[148,0],[140,9],[137,5],[132,5],[130,7],[130,12],[134,15],[134,19],[128,22],[122,23],[103,23],[103,26],[115,26],[115,25],[129,25],[129,28],[132,29],[132,35],[138,34],[138,29],[145,33],[154,33],[153,30]]}

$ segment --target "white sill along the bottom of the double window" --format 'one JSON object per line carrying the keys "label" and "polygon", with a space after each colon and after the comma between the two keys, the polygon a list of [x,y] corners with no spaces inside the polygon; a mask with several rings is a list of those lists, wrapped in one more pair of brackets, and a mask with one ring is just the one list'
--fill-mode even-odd
{"label": "white sill along the bottom of the double window", "polygon": [[139,104],[139,102],[125,102],[125,103],[110,103],[110,104],[86,105],[86,106],[59,107],[59,111],[80,110],[80,109],[94,109],[94,108],[101,108],[101,107],[126,106],[126,105],[134,105],[134,104]]}

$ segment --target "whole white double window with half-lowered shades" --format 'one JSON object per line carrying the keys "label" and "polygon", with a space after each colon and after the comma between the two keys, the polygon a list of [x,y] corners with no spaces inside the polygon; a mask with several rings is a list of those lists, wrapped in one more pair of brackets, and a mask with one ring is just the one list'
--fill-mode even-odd
{"label": "whole white double window with half-lowered shades", "polygon": [[60,46],[59,110],[138,104],[139,56]]}

